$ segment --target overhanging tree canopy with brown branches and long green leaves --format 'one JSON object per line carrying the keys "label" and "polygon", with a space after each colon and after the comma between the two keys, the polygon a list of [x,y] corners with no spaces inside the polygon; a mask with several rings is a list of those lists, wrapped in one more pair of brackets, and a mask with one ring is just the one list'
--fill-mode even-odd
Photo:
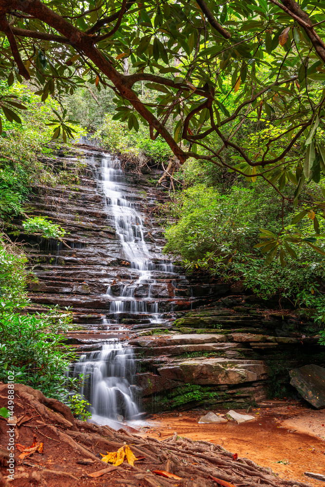
{"label": "overhanging tree canopy with brown branches and long green leaves", "polygon": [[[0,76],[9,86],[27,80],[42,101],[86,81],[111,89],[114,118],[134,130],[147,124],[181,163],[193,157],[262,178],[297,206],[305,181],[325,173],[324,28],[325,1],[315,0],[0,0]],[[0,105],[20,121],[17,100]],[[54,137],[66,140],[66,112],[55,115]],[[325,202],[305,203],[297,221],[308,215],[317,235]],[[271,256],[285,244],[264,238]],[[288,246],[301,236],[285,238]]]}

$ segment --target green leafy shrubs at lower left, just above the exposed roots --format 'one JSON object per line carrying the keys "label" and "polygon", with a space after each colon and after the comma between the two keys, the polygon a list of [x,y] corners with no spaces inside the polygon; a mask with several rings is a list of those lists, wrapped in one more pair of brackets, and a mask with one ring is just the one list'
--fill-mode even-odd
{"label": "green leafy shrubs at lower left, just above the exposed roots", "polygon": [[1,240],[0,263],[0,380],[6,381],[9,369],[14,371],[16,382],[65,399],[67,387],[73,386],[66,371],[74,354],[64,346],[60,331],[69,326],[71,313],[57,307],[26,313],[24,254]]}

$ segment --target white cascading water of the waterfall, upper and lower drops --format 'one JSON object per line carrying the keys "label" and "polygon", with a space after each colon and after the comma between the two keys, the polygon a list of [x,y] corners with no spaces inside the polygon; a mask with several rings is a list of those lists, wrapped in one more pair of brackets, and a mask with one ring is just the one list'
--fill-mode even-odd
{"label": "white cascading water of the waterfall, upper and lower drops", "polygon": [[[110,300],[110,315],[119,319],[127,311],[128,314],[146,315],[151,323],[160,323],[158,301],[152,298],[155,280],[152,277],[156,266],[147,243],[141,213],[136,203],[128,201],[123,194],[125,177],[119,161],[110,156],[102,158],[101,182],[106,196],[106,211],[113,220],[116,234],[122,244],[122,259],[130,263],[137,279],[121,286],[119,296],[112,292],[115,281],[108,287],[106,297]],[[157,264],[160,273],[173,274],[172,263],[161,259]],[[141,299],[134,296],[139,286],[145,286],[147,295]],[[110,323],[104,319],[108,329]],[[80,393],[92,405],[92,418],[100,423],[106,419],[116,420],[120,414],[124,418],[132,418],[138,414],[135,402],[134,386],[132,386],[135,363],[133,350],[118,340],[111,340],[102,345],[97,352],[81,356],[75,365],[74,376],[83,374],[84,380]],[[105,419],[106,418],[106,419]]]}

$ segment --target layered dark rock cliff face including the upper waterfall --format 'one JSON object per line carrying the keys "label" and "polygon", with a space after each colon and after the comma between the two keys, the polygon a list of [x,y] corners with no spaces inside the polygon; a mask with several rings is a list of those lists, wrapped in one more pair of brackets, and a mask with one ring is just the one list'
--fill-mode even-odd
{"label": "layered dark rock cliff face including the upper waterfall", "polygon": [[324,364],[318,338],[292,311],[274,310],[238,285],[189,280],[166,260],[152,209],[168,194],[149,182],[154,169],[123,174],[109,154],[87,147],[54,165],[81,174],[77,184],[35,188],[26,206],[29,216],[48,216],[69,232],[62,243],[21,231],[37,277],[29,311],[71,307],[66,341],[80,354],[107,340],[129,343],[143,409],[243,406],[280,394],[287,371],[311,357]]}

